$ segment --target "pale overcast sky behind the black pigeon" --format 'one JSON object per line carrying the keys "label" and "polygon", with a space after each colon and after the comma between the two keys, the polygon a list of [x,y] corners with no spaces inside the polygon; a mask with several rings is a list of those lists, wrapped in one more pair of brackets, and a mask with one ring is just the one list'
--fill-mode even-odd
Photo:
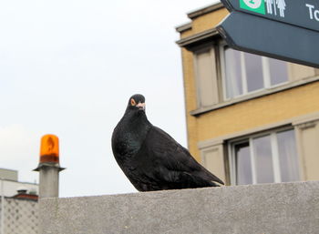
{"label": "pale overcast sky behind the black pigeon", "polygon": [[208,0],[3,1],[0,168],[38,182],[40,138],[60,139],[60,196],[136,192],[110,137],[129,97],[187,146],[179,34]]}

